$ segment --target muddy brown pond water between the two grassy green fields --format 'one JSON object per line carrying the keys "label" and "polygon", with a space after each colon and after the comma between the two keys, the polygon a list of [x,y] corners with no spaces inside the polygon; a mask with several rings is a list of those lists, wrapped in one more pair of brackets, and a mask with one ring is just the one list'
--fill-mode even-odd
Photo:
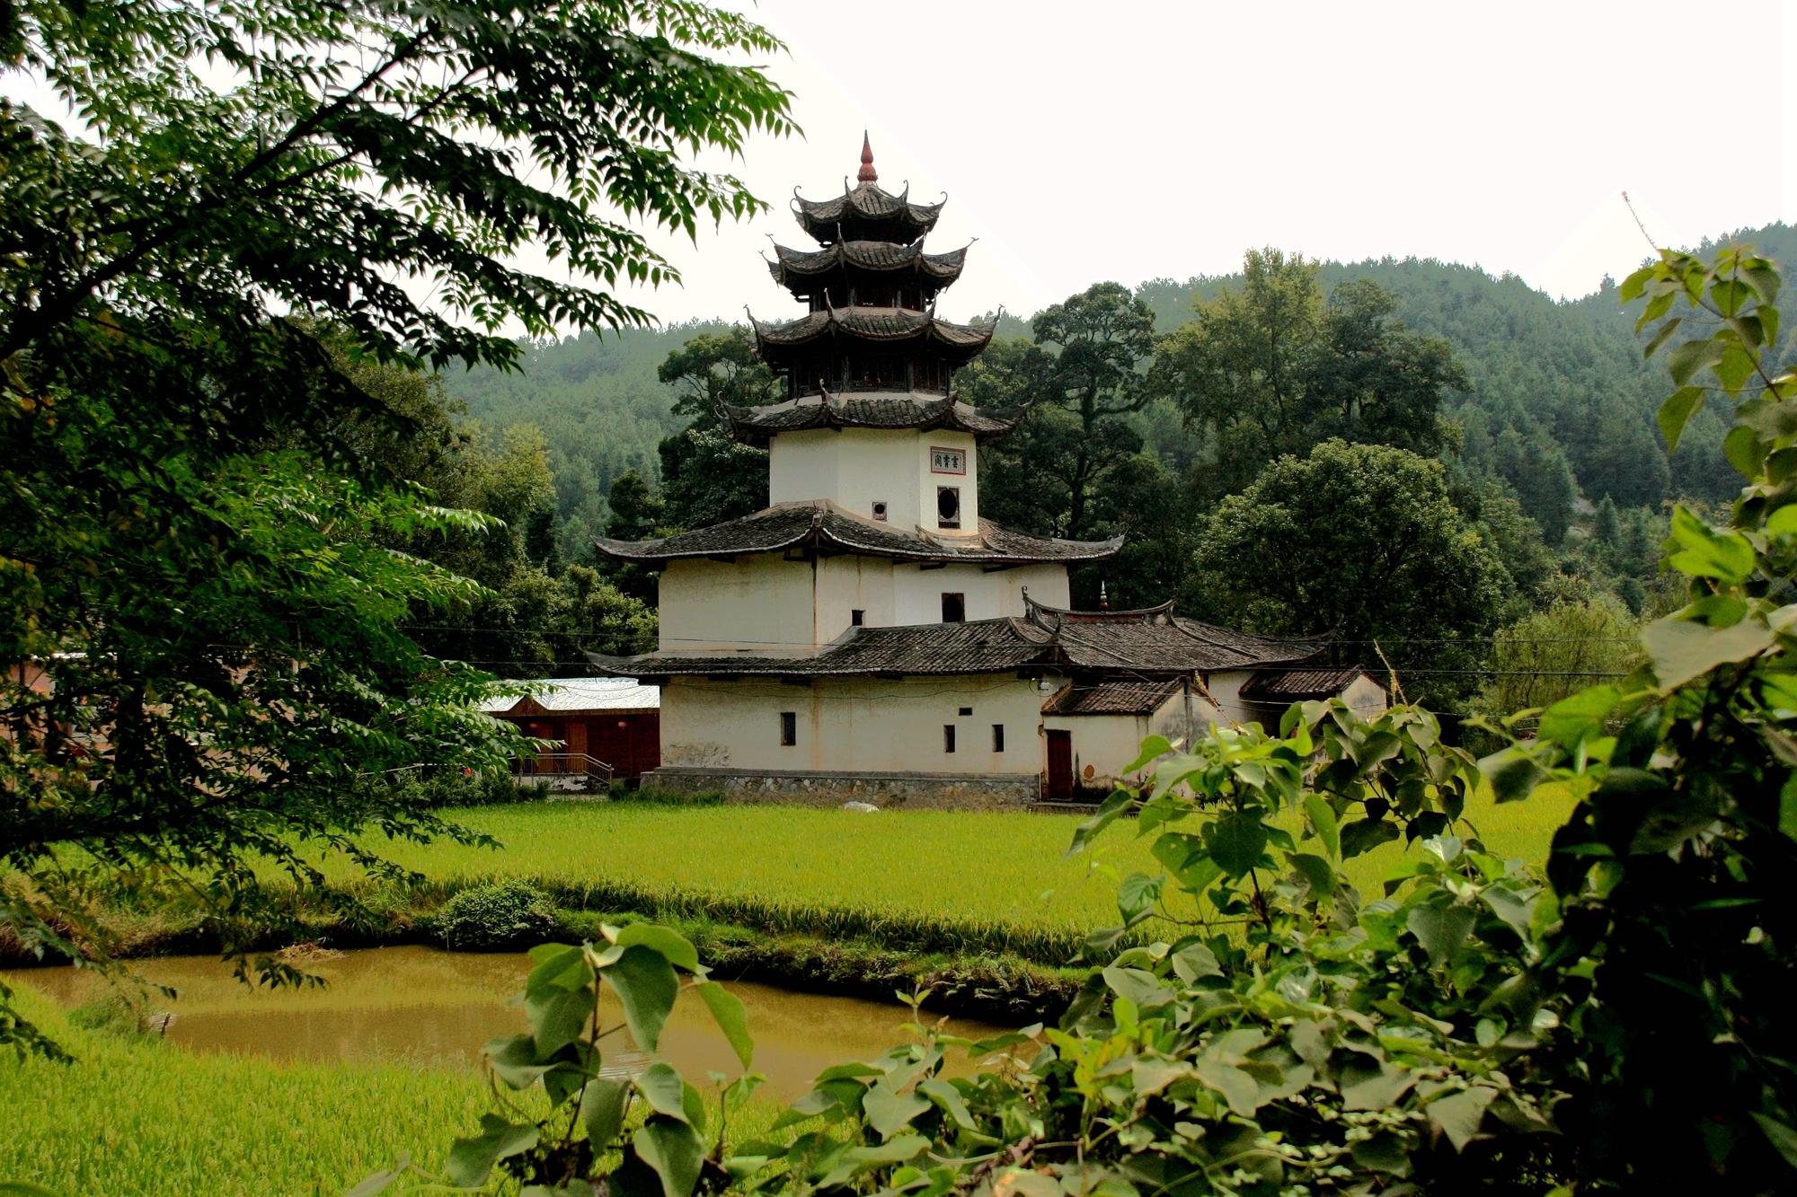
{"label": "muddy brown pond water between the two grassy green fields", "polygon": [[[480,1046],[525,1030],[525,1015],[507,1005],[525,985],[523,954],[444,953],[431,947],[370,947],[304,965],[327,985],[252,989],[216,956],[133,962],[149,983],[169,985],[174,999],[149,996],[151,1010],[173,1012],[167,1037],[194,1051],[237,1051],[279,1060],[401,1060],[420,1068],[476,1068]],[[7,974],[65,1005],[104,996],[110,983],[88,971],[29,969]],[[726,981],[749,1014],[755,1071],[775,1096],[794,1098],[830,1064],[864,1060],[913,1037],[900,1005],[859,998],[819,998],[769,985]],[[600,1017],[622,1023],[616,998],[602,990]],[[934,1019],[931,1019],[934,1021]],[[943,1030],[969,1039],[1006,1028],[947,1019]],[[606,1050],[607,1073],[634,1073],[649,1055],[620,1032]],[[620,1044],[620,1041],[625,1041]],[[661,1032],[661,1057],[704,1086],[706,1071],[730,1077],[740,1064],[704,1003],[681,994]],[[963,1060],[965,1053],[951,1053]]]}

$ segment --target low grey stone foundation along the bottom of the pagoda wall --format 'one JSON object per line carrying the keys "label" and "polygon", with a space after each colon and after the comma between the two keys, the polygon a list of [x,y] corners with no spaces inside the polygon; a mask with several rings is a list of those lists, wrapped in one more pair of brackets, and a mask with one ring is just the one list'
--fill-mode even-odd
{"label": "low grey stone foundation along the bottom of the pagoda wall", "polygon": [[881,809],[1028,811],[1040,800],[1040,778],[1015,773],[758,773],[663,766],[643,775],[647,789],[681,794],[721,793],[728,802],[839,807],[868,802]]}

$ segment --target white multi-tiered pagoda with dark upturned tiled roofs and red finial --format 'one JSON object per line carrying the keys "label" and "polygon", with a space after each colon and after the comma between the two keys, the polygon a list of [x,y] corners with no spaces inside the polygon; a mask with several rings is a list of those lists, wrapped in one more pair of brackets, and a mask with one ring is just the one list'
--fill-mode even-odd
{"label": "white multi-tiered pagoda with dark upturned tiled roofs and red finial", "polygon": [[1173,615],[1069,609],[1067,570],[1121,537],[1067,541],[979,514],[979,446],[1026,410],[960,401],[954,372],[994,324],[936,297],[967,250],[925,252],[942,203],[857,185],[794,200],[818,250],[776,246],[807,306],[753,320],[785,397],[721,412],[769,451],[767,509],[598,550],[659,573],[661,638],[597,672],[659,685],[661,764],[645,784],[785,802],[1024,807],[1107,787],[1150,732],[1276,721],[1301,697],[1385,696],[1317,642]]}

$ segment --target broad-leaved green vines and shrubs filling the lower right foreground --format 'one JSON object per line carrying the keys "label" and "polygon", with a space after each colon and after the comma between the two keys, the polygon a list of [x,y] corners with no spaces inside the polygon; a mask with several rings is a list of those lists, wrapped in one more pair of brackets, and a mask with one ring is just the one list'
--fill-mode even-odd
{"label": "broad-leaved green vines and shrubs filling the lower right foreground", "polygon": [[[1675,338],[1675,304],[1713,318],[1669,352],[1669,442],[1707,399],[1693,379],[1731,397],[1757,383],[1725,442],[1748,485],[1727,527],[1675,509],[1666,566],[1691,600],[1648,624],[1639,670],[1520,712],[1535,735],[1481,762],[1407,705],[1150,739],[1132,767],[1152,787],[1114,794],[1073,850],[1134,812],[1159,870],[1123,879],[1060,1026],[925,1033],[827,1069],[775,1123],[787,1134],[724,1157],[677,1120],[685,1089],[656,1080],[661,1104],[642,1096],[674,1120],[665,1139],[633,1141],[638,1163],[613,1172],[597,1138],[577,1166],[532,1172],[536,1192],[604,1175],[686,1197],[710,1163],[712,1186],[916,1197],[1790,1192],[1797,374],[1761,368],[1777,284],[1731,248],[1664,253],[1623,286],[1648,298],[1644,325],[1666,320],[1650,352]],[[1576,800],[1545,879],[1463,827],[1477,794]],[[1351,886],[1342,863],[1398,838],[1423,852],[1384,895]],[[1172,931],[1129,942],[1148,926]],[[677,949],[656,944],[668,1001]],[[571,951],[546,949],[532,987]],[[501,1059],[525,1039],[489,1046],[496,1069],[548,1062]],[[1005,1055],[945,1078],[960,1048]],[[534,1134],[483,1138],[501,1130]]]}

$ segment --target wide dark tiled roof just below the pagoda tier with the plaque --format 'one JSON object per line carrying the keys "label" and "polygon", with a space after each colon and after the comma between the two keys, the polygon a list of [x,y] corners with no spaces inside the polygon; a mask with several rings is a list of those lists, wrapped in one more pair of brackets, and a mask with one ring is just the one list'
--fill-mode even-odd
{"label": "wide dark tiled roof just below the pagoda tier with the plaque", "polygon": [[828,500],[778,503],[753,516],[713,523],[654,541],[593,541],[602,554],[620,561],[672,561],[677,557],[735,557],[787,548],[848,552],[904,561],[970,561],[978,564],[1031,564],[1039,561],[1102,561],[1123,546],[1109,541],[1057,541],[1010,532],[987,519],[976,536],[929,536],[852,516]]}

